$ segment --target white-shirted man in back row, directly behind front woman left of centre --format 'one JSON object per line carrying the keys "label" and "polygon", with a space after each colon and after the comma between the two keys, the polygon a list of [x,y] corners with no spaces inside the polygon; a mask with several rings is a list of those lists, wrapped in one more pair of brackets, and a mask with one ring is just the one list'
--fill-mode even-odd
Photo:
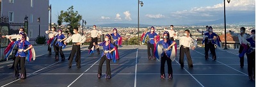
{"label": "white-shirted man in back row, directly behind front woman left of centre", "polygon": [[[90,45],[88,47],[89,53],[90,53],[90,51],[94,49],[93,43],[95,43],[95,45],[98,44],[98,36],[100,35],[100,32],[96,30],[96,25],[93,25],[93,30],[88,31],[88,33],[91,33],[91,37],[92,37],[92,42],[90,42]],[[100,49],[99,48],[97,48],[97,54],[100,54]]]}

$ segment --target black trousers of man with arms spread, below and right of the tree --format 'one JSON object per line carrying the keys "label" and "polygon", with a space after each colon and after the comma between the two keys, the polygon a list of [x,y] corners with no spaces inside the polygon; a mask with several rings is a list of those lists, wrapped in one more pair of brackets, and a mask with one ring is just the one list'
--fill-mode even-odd
{"label": "black trousers of man with arms spread, below and right of the tree", "polygon": [[70,66],[70,67],[72,66],[72,61],[73,61],[73,58],[74,58],[75,54],[76,54],[76,59],[75,59],[76,66],[81,67],[81,49],[80,49],[80,45],[73,45],[72,46],[68,66]]}

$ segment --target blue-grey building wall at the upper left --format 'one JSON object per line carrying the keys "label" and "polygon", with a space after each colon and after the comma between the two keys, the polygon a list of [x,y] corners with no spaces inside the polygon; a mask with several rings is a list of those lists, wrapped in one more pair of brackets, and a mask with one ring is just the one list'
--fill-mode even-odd
{"label": "blue-grey building wall at the upper left", "polygon": [[0,3],[1,16],[8,16],[9,23],[24,23],[24,18],[28,17],[29,38],[36,38],[39,33],[40,36],[46,35],[45,31],[49,29],[49,0],[0,0]]}

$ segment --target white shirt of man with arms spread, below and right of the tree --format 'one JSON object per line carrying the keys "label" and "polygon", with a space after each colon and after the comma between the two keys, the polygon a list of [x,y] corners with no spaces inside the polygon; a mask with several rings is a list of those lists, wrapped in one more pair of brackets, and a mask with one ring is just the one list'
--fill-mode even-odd
{"label": "white shirt of man with arms spread, below and right of the tree", "polygon": [[77,33],[68,37],[67,40],[65,40],[64,42],[69,43],[71,40],[73,43],[78,43],[78,42],[84,43],[86,40],[86,37],[84,35],[82,36],[81,34]]}

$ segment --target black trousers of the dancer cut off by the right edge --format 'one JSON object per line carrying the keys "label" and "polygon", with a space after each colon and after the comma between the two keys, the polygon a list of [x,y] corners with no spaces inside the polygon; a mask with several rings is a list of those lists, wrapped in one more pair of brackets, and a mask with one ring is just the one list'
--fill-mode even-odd
{"label": "black trousers of the dancer cut off by the right edge", "polygon": [[247,54],[248,75],[255,78],[255,51]]}

